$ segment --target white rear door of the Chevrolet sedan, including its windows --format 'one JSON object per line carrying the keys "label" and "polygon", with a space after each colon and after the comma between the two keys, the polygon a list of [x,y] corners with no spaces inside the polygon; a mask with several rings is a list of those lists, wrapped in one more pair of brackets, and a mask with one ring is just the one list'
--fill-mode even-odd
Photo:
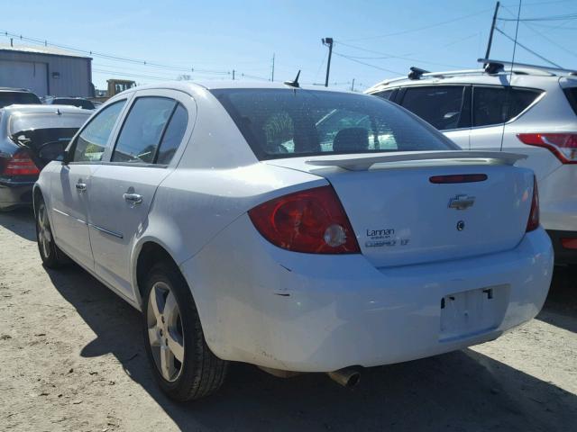
{"label": "white rear door of the Chevrolet sedan, including its windows", "polygon": [[89,220],[96,274],[133,297],[131,257],[154,193],[179,158],[196,106],[178,91],[137,92],[110,151],[92,177]]}

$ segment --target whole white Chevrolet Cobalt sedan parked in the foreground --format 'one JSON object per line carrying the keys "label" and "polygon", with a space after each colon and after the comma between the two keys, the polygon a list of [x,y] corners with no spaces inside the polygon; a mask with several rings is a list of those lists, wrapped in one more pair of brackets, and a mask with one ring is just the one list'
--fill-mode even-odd
{"label": "whole white Chevrolet Cobalt sedan parked in the foreground", "polygon": [[136,87],[42,170],[38,244],[142,311],[175,400],[215,392],[230,361],[351,385],[536,316],[553,250],[519,158],[371,95]]}

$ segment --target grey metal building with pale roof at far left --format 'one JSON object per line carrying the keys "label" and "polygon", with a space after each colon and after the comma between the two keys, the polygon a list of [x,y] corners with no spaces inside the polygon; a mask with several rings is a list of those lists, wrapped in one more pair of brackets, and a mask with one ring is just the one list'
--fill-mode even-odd
{"label": "grey metal building with pale roof at far left", "polygon": [[52,47],[0,44],[0,86],[39,96],[93,96],[92,58]]}

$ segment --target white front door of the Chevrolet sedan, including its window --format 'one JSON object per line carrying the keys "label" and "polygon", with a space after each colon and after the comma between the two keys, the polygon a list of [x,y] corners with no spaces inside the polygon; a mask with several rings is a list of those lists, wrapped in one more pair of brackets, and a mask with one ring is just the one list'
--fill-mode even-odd
{"label": "white front door of the Chevrolet sedan, including its window", "polygon": [[93,268],[87,200],[126,100],[112,103],[87,123],[69,146],[69,162],[50,172],[50,203],[56,242],[79,264]]}

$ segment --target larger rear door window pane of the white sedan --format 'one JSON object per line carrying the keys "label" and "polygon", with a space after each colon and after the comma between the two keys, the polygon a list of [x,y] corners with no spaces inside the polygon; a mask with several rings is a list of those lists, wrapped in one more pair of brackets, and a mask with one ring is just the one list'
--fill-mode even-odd
{"label": "larger rear door window pane of the white sedan", "polygon": [[168,97],[137,98],[124,121],[112,154],[113,162],[152,164],[176,101]]}

